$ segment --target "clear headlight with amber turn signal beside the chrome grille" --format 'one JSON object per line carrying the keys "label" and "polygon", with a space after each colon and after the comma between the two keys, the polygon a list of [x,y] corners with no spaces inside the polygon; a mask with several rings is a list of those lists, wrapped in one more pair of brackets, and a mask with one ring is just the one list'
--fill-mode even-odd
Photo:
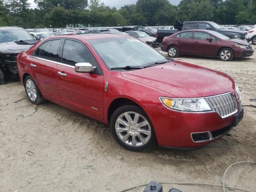
{"label": "clear headlight with amber turn signal beside the chrome grille", "polygon": [[160,100],[162,104],[164,104],[164,106],[176,111],[181,111],[181,112],[212,111],[212,108],[204,98],[172,99],[172,98],[160,97]]}

